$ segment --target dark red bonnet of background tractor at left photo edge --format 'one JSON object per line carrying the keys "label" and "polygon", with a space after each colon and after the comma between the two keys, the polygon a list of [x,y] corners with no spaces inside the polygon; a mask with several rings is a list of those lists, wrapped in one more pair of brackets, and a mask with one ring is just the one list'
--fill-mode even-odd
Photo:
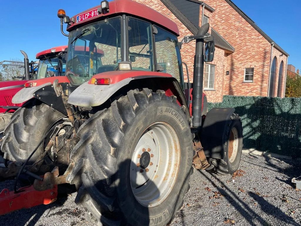
{"label": "dark red bonnet of background tractor at left photo edge", "polygon": [[[24,83],[26,82],[27,80],[0,82],[0,106],[20,107],[22,104],[13,104],[11,99],[19,90],[24,88]],[[7,89],[4,89],[5,87],[7,87]],[[0,113],[5,111],[6,109],[0,107]],[[14,110],[9,110],[8,112],[14,112]]]}

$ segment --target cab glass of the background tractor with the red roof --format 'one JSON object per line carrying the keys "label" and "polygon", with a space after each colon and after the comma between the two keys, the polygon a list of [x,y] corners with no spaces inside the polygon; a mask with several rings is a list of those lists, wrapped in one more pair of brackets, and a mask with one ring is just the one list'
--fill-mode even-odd
{"label": "cab glass of the background tractor with the red roof", "polygon": [[[50,75],[47,73],[47,71],[53,71],[54,76],[64,75],[65,71],[66,71],[66,60],[64,58],[62,58],[61,62],[63,65],[59,65],[59,62],[60,62],[60,59],[57,57],[40,60],[39,67],[38,67],[37,79],[50,77]],[[56,67],[56,69],[54,67]],[[59,70],[61,70],[61,74],[59,73],[60,72]]]}

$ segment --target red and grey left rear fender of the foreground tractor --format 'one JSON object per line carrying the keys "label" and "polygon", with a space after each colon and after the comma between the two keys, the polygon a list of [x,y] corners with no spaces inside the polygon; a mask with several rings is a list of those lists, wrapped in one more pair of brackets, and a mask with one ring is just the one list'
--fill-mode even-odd
{"label": "red and grey left rear fender of the foreground tractor", "polygon": [[33,94],[37,90],[53,84],[53,81],[56,79],[58,80],[58,83],[70,83],[70,80],[66,76],[56,76],[56,77],[31,80],[27,82],[27,83],[31,83],[31,87],[21,89],[18,93],[14,95],[11,102],[13,102],[14,104],[20,104],[29,99],[32,99],[34,97]]}

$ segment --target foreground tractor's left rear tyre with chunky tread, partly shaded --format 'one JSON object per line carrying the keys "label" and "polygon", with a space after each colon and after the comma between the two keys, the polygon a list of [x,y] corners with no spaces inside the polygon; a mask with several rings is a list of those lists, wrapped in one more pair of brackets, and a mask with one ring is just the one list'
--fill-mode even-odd
{"label": "foreground tractor's left rear tyre with chunky tread, partly shaded", "polygon": [[[4,152],[5,162],[25,162],[48,130],[64,117],[66,116],[61,112],[38,100],[33,100],[25,107],[19,108],[4,131],[2,152]],[[45,140],[44,143],[46,142]],[[28,164],[36,161],[45,145],[47,144],[39,146]]]}

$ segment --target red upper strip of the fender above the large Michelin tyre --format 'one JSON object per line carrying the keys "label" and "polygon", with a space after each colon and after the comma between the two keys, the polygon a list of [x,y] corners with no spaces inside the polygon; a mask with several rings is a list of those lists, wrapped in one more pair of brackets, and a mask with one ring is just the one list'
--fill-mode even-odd
{"label": "red upper strip of the fender above the large Michelin tyre", "polygon": [[107,71],[94,75],[88,81],[88,84],[94,84],[91,83],[91,81],[98,78],[110,78],[110,84],[114,84],[126,78],[134,78],[139,76],[172,77],[171,74],[156,71]]}

